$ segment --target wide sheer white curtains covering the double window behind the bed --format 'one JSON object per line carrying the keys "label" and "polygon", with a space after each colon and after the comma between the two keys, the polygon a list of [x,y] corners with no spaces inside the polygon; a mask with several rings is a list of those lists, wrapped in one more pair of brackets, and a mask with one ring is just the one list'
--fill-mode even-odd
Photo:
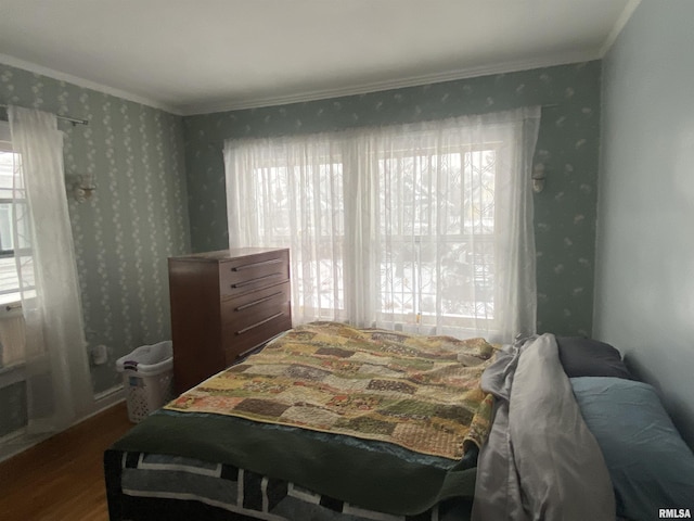
{"label": "wide sheer white curtains covering the double window behind the bed", "polygon": [[539,107],[224,145],[231,246],[288,246],[295,322],[536,329]]}

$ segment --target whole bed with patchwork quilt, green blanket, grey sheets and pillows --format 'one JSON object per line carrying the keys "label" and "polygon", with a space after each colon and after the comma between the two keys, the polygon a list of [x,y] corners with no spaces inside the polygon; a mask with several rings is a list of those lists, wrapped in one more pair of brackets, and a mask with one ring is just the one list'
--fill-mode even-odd
{"label": "whole bed with patchwork quilt, green blanket, grey sheets and pillows", "polygon": [[[295,328],[106,450],[111,520],[639,520],[654,505],[690,508],[694,456],[667,415],[674,484],[670,472],[647,500],[633,480],[613,484],[625,460],[592,434],[616,431],[601,425],[600,397],[646,384],[616,350],[586,342]],[[584,410],[597,412],[583,421]]]}

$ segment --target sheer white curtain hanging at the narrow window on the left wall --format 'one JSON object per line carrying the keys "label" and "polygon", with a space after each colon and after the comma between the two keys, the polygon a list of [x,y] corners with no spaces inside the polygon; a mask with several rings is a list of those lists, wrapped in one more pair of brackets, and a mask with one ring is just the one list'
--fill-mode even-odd
{"label": "sheer white curtain hanging at the narrow window on the left wall", "polygon": [[93,408],[75,247],[52,114],[10,106],[18,153],[13,189],[15,258],[26,322],[28,431],[63,429]]}

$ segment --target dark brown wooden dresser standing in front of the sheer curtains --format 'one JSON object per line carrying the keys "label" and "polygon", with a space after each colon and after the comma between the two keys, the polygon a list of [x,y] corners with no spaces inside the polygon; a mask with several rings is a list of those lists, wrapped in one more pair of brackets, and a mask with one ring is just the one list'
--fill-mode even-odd
{"label": "dark brown wooden dresser standing in front of the sheer curtains", "polygon": [[292,327],[290,251],[169,258],[174,378],[181,393]]}

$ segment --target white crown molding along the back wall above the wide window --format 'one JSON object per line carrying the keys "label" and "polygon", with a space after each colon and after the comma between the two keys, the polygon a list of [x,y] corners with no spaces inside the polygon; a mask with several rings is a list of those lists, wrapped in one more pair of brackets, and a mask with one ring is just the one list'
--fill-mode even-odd
{"label": "white crown molding along the back wall above the wide window", "polygon": [[520,62],[506,62],[494,65],[485,65],[479,67],[467,67],[445,73],[436,73],[421,76],[409,76],[385,81],[375,81],[369,84],[355,84],[350,86],[339,87],[336,89],[312,90],[296,92],[287,96],[275,96],[266,98],[246,98],[236,99],[219,103],[197,103],[181,105],[179,107],[183,116],[195,116],[214,114],[218,112],[240,111],[244,109],[259,109],[262,106],[285,105],[290,103],[303,103],[308,101],[325,100],[331,98],[339,98],[344,96],[358,96],[370,92],[378,92],[384,90],[401,89],[406,87],[419,87],[428,84],[438,84],[442,81],[454,81],[460,79],[468,79],[479,76],[489,76],[494,74],[516,73],[520,71],[529,71],[532,68],[550,67],[555,65],[566,65],[569,63],[588,62],[599,60],[601,56],[596,51],[593,52],[573,52],[538,60],[525,60]]}

